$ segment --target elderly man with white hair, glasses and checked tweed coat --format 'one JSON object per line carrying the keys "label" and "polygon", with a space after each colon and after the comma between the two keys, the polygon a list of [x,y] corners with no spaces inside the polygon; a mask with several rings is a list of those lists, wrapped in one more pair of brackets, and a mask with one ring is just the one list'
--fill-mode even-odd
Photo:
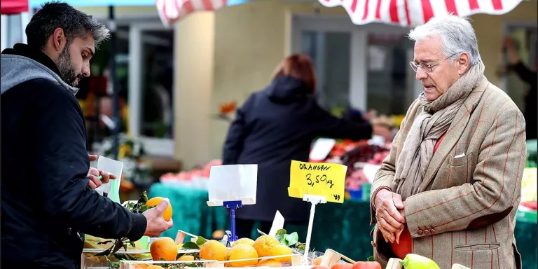
{"label": "elderly man with white hair, glasses and checked tweed coat", "polygon": [[465,18],[413,29],[424,86],[372,185],[375,260],[413,253],[441,268],[521,268],[513,236],[526,158],[525,119],[485,78]]}

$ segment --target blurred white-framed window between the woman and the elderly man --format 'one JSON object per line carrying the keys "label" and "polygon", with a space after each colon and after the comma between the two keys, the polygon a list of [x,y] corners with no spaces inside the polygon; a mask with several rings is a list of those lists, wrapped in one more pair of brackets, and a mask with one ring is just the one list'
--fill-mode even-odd
{"label": "blurred white-framed window between the woman and the elderly man", "polygon": [[347,17],[295,15],[290,48],[312,57],[318,102],[325,109],[351,106],[405,114],[422,92],[408,64],[413,60],[408,30],[379,23],[353,25]]}

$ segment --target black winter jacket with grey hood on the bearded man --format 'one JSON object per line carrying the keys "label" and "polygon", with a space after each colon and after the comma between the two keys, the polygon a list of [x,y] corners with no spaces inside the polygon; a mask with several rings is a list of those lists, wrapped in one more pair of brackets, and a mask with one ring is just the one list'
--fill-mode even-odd
{"label": "black winter jacket with grey hood on the bearded man", "polygon": [[146,230],[144,216],[88,187],[83,112],[58,74],[27,45],[2,52],[1,268],[80,268],[83,233]]}

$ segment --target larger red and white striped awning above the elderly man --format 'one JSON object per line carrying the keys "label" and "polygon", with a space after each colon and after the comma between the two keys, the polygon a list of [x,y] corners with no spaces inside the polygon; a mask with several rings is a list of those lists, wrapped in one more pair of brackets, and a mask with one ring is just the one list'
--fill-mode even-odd
{"label": "larger red and white striped awning above the elderly man", "polygon": [[382,22],[404,27],[422,25],[434,16],[453,13],[502,15],[522,0],[319,0],[324,6],[343,6],[355,25]]}

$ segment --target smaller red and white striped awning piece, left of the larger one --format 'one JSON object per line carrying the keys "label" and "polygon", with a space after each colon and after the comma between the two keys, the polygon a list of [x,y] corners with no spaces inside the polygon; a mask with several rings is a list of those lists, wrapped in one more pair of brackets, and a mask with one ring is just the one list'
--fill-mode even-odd
{"label": "smaller red and white striped awning piece, left of the larger one", "polygon": [[195,11],[216,11],[227,6],[228,0],[156,0],[163,24],[169,26]]}

